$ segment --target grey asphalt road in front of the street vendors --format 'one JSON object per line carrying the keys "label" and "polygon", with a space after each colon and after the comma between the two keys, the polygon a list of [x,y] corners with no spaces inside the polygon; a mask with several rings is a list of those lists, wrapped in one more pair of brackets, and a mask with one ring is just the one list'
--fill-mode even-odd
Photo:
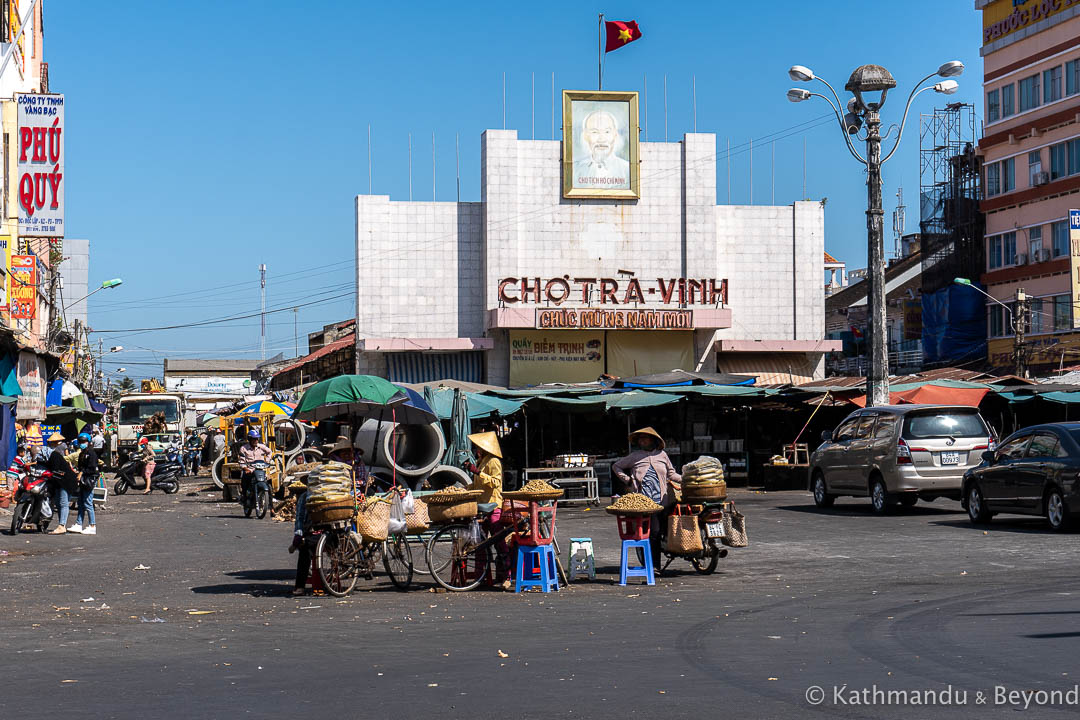
{"label": "grey asphalt road in front of the street vendors", "polygon": [[[0,535],[0,717],[984,718],[1080,682],[1080,534],[1038,519],[732,491],[748,548],[622,588],[613,519],[561,508],[596,582],[294,599],[291,526],[198,487],[110,499],[94,538]],[[1078,701],[1032,695],[1029,717]]]}

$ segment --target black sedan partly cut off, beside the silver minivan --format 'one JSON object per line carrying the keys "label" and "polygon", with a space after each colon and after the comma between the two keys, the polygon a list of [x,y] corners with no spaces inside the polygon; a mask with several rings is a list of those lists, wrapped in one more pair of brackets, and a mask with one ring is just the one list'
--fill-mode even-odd
{"label": "black sedan partly cut off, beside the silver minivan", "polygon": [[1080,423],[1054,422],[1020,430],[983,453],[963,476],[961,500],[972,522],[998,513],[1042,515],[1066,530],[1080,515]]}

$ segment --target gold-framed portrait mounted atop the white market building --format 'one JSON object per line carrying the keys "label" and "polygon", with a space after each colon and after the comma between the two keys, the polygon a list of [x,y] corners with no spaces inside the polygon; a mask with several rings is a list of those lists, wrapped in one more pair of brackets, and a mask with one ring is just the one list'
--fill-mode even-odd
{"label": "gold-framed portrait mounted atop the white market building", "polygon": [[640,199],[639,135],[637,93],[564,90],[563,196]]}

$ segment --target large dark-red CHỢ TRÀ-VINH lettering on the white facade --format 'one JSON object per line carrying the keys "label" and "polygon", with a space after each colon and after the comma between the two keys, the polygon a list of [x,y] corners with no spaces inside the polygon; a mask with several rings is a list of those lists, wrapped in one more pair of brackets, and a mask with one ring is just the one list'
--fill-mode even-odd
{"label": "large dark-red CH\u1ee2 TR\u00c0-VINH lettering on the white facade", "polygon": [[499,281],[499,302],[546,303],[581,302],[602,305],[618,304],[676,304],[726,305],[728,281],[710,277],[658,277],[640,281],[637,277],[504,277]]}

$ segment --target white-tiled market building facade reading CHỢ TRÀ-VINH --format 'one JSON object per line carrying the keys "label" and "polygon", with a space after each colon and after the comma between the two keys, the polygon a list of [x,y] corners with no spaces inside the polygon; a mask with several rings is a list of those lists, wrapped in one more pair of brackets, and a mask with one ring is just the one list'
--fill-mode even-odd
{"label": "white-tiled market building facade reading CH\u1ee2 TR\u00c0-VINH", "polygon": [[[636,95],[610,95],[632,96],[636,138]],[[595,161],[583,135],[573,149]],[[561,141],[488,130],[480,202],[357,196],[357,371],[514,386],[672,369],[822,377],[840,345],[823,339],[823,204],[717,205],[712,134],[620,144],[638,166],[589,175],[590,155]]]}

